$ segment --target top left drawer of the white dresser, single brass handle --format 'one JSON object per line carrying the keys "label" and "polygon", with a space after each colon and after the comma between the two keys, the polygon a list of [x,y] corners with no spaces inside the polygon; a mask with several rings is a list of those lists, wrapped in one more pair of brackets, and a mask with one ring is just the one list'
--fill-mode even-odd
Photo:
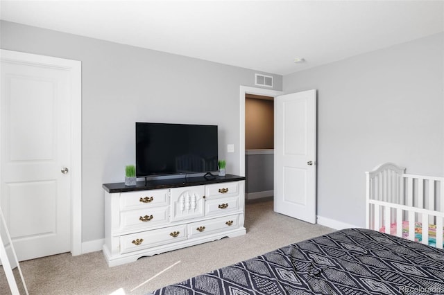
{"label": "top left drawer of the white dresser, single brass handle", "polygon": [[121,193],[120,208],[121,210],[130,210],[135,208],[165,206],[169,201],[168,193],[168,189]]}

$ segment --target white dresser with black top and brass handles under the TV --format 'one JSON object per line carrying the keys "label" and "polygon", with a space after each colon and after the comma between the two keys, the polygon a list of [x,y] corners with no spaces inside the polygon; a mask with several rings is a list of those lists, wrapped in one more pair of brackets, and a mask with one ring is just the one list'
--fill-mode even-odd
{"label": "white dresser with black top and brass handles under the TV", "polygon": [[108,265],[244,235],[244,179],[226,175],[103,184]]}

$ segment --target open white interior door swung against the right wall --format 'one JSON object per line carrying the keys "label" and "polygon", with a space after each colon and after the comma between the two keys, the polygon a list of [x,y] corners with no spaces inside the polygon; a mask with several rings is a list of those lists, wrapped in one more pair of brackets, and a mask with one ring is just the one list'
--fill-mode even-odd
{"label": "open white interior door swung against the right wall", "polygon": [[316,90],[275,97],[274,210],[316,223]]}

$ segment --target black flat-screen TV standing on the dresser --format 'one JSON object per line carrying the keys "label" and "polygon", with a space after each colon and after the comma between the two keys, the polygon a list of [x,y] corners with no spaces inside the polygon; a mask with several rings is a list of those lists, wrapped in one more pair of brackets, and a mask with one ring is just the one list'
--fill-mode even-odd
{"label": "black flat-screen TV standing on the dresser", "polygon": [[214,172],[217,125],[136,123],[136,176]]}

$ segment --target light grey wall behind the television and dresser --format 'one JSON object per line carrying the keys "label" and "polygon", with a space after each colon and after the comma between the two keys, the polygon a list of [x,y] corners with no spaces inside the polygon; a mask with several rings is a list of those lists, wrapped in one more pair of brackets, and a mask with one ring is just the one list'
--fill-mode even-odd
{"label": "light grey wall behind the television and dresser", "polygon": [[219,125],[219,157],[239,174],[239,87],[257,71],[7,21],[0,33],[3,49],[82,62],[83,242],[104,236],[101,186],[135,163],[136,121]]}

